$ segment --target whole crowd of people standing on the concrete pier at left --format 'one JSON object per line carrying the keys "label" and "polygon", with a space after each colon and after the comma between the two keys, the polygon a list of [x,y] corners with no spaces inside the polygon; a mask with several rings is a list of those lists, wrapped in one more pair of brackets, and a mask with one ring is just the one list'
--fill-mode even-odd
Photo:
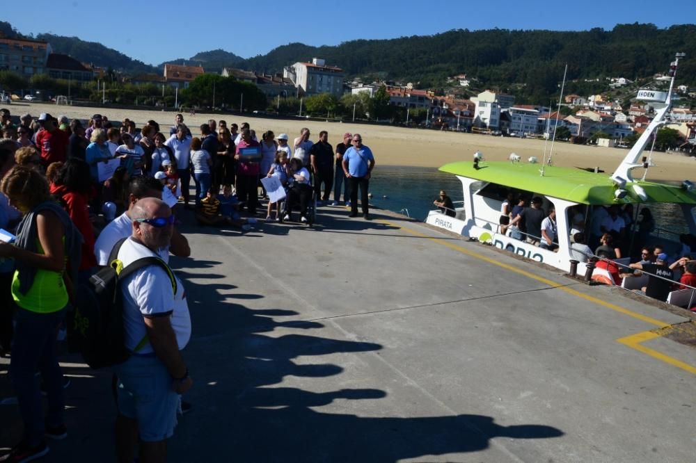
{"label": "whole crowd of people standing on the concrete pier at left", "polygon": [[[33,460],[49,451],[45,438],[67,436],[68,382],[56,338],[75,289],[114,255],[123,266],[142,257],[164,263],[123,281],[125,347],[133,353],[114,368],[118,461],[134,461],[136,448],[138,461],[162,461],[176,410],[190,408],[180,394],[192,384],[180,354],[191,334],[185,291],[168,268],[170,254],[191,253],[177,230],[179,209],[195,209],[190,216],[200,225],[246,230],[271,193],[280,199],[268,201],[267,221],[292,220],[298,209],[306,222],[310,200],[326,205],[332,192],[331,204],[345,204],[356,217],[359,190],[370,219],[374,156],[359,133],[343,134],[334,148],[326,131],[314,143],[302,129],[290,144],[273,131],[258,140],[246,122],[228,127],[211,119],[191,131],[181,114],[164,131],[154,120],[138,130],[132,120],[113,124],[100,114],[86,123],[23,115],[18,124],[7,109],[0,115],[0,355],[10,356],[24,422],[21,441],[0,461]],[[271,177],[280,191],[264,188],[261,180]],[[142,400],[148,394],[157,400]]]}

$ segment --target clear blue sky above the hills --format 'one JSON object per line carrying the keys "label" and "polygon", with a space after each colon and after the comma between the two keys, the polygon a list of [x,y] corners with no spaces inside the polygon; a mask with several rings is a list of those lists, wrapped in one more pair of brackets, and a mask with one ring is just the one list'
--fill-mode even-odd
{"label": "clear blue sky above the hills", "polygon": [[651,22],[663,28],[694,18],[693,0],[669,8],[646,0],[68,0],[52,8],[28,8],[22,1],[8,1],[0,17],[25,34],[75,35],[150,64],[218,48],[248,58],[290,42],[335,45],[360,38],[496,27],[581,31]]}

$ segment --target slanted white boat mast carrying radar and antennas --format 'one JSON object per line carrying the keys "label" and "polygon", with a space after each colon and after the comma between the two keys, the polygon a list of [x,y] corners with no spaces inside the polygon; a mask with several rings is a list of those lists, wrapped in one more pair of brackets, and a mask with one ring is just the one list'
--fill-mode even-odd
{"label": "slanted white boat mast carrying radar and antennas", "polygon": [[665,121],[665,115],[667,111],[670,111],[670,106],[672,106],[672,90],[674,89],[674,79],[677,76],[677,66],[679,65],[679,59],[683,58],[685,54],[677,53],[670,65],[670,74],[672,74],[672,80],[670,81],[670,90],[665,95],[665,92],[658,92],[653,90],[638,90],[637,99],[642,99],[645,101],[651,101],[651,105],[659,107],[654,119],[648,125],[647,129],[642,133],[638,141],[635,142],[631,151],[626,154],[624,160],[619,164],[617,170],[612,174],[611,178],[617,184],[625,184],[626,181],[636,181],[631,175],[631,170],[637,167],[647,167],[647,162],[639,162],[640,156],[642,155],[645,146],[649,143],[652,136],[657,135],[657,130],[663,126]]}

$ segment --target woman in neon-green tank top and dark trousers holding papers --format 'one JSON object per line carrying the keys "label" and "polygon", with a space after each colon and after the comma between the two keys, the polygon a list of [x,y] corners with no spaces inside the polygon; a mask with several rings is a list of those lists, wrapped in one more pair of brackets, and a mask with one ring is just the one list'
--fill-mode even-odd
{"label": "woman in neon-green tank top and dark trousers holding papers", "polygon": [[[12,296],[17,305],[10,362],[24,435],[10,460],[48,453],[45,437],[62,439],[67,432],[63,411],[63,373],[56,356],[56,335],[68,305],[68,284],[77,277],[82,236],[60,204],[52,200],[46,179],[34,169],[17,165],[0,186],[24,217],[15,244],[0,242],[0,257],[15,259]],[[46,386],[48,414],[44,419],[35,373]]]}

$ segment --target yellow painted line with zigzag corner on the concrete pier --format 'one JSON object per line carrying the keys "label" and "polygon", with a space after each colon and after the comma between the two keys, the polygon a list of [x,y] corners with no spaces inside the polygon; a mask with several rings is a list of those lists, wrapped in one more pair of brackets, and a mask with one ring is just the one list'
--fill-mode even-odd
{"label": "yellow painted line with zigzag corner on the concrete pier", "polygon": [[[448,241],[445,241],[441,238],[434,238],[433,236],[428,236],[426,234],[416,232],[416,230],[402,227],[401,225],[398,225],[394,222],[389,222],[388,220],[379,220],[379,222],[382,222],[386,225],[389,225],[390,227],[396,227],[397,229],[400,229],[400,230],[402,230],[406,233],[412,234],[414,236],[420,236],[421,238],[428,238],[430,241],[433,241],[434,243],[444,245],[446,247],[449,247],[452,250],[455,250],[457,252],[461,252],[462,254],[466,254],[470,257],[475,257],[476,259],[480,259],[482,261],[492,263],[494,266],[505,268],[505,270],[509,270],[510,272],[519,273],[520,275],[523,275],[525,277],[535,279],[537,282],[544,283],[548,286],[551,286],[552,288],[560,289],[561,291],[564,291],[564,292],[569,293],[571,295],[577,296],[578,298],[583,298],[585,300],[589,300],[590,302],[594,302],[594,304],[599,304],[602,307],[607,307],[608,309],[612,309],[613,311],[617,311],[617,312],[619,312],[619,314],[631,316],[631,317],[636,318],[638,320],[641,320],[645,323],[655,325],[661,329],[664,329],[664,328],[671,326],[669,323],[665,323],[665,322],[662,322],[660,320],[656,320],[655,318],[651,318],[649,316],[644,316],[644,315],[638,314],[632,310],[628,310],[624,307],[620,307],[616,304],[612,304],[611,302],[606,302],[604,300],[595,298],[594,296],[591,296],[591,295],[588,295],[585,293],[581,293],[580,291],[568,288],[567,286],[563,286],[560,283],[553,282],[550,279],[546,279],[544,277],[539,277],[538,275],[534,275],[533,273],[530,273],[526,270],[522,270],[521,268],[517,268],[517,267],[511,266],[511,265],[508,265],[507,263],[500,262],[496,259],[491,259],[490,257],[486,257],[483,254],[479,254],[478,252],[474,252],[474,251],[470,251],[468,249],[465,249],[464,247],[462,247],[460,245],[457,245],[454,243],[449,243]],[[651,357],[659,359],[667,364],[670,364],[672,366],[676,366],[677,368],[681,368],[682,370],[688,371],[689,373],[693,373],[696,375],[696,368],[695,367],[690,366],[689,364],[686,364],[685,362],[681,362],[681,360],[677,360],[677,359],[674,359],[673,357],[662,354],[661,352],[658,352],[654,349],[647,348],[645,346],[640,345],[640,343],[642,343],[644,341],[649,341],[651,339],[659,338],[659,337],[663,336],[663,334],[666,334],[667,332],[668,332],[668,330],[658,330],[658,332],[645,331],[645,332],[640,332],[638,334],[632,334],[631,336],[626,336],[626,337],[621,338],[621,339],[617,339],[617,341],[619,343],[624,344],[624,346],[631,347],[635,350],[643,352],[644,354],[647,354]]]}

